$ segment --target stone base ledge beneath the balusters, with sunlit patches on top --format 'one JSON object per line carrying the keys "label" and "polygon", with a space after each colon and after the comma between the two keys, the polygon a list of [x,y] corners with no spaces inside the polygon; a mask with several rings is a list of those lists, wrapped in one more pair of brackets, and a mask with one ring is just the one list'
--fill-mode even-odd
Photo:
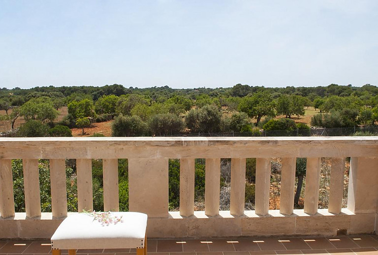
{"label": "stone base ledge beneath the balusters, with sunlit patches on top", "polygon": [[[76,213],[68,213],[76,214]],[[0,218],[1,239],[50,238],[64,218],[54,219],[52,213],[28,219],[25,213],[14,217]],[[167,218],[149,218],[147,236],[150,238],[210,238],[232,236],[335,236],[339,229],[347,234],[367,234],[377,230],[377,213],[354,214],[347,208],[341,214],[328,213],[319,209],[315,215],[294,210],[290,216],[279,210],[269,210],[266,216],[245,211],[243,216],[233,216],[229,211],[209,217],[203,211],[190,217],[180,212],[169,212]]]}

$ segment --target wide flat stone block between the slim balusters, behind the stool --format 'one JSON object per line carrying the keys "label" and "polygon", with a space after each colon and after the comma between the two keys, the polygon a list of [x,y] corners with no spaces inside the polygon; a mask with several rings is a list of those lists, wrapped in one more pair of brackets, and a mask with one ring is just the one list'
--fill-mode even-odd
{"label": "wide flat stone block between the slim balusters, behind the stool", "polygon": [[128,159],[130,212],[168,217],[168,159]]}

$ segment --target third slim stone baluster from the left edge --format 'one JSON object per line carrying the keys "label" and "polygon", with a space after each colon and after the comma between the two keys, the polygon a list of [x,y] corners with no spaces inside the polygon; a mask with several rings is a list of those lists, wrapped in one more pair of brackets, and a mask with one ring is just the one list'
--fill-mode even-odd
{"label": "third slim stone baluster from the left edge", "polygon": [[65,160],[50,159],[51,207],[56,219],[67,216]]}

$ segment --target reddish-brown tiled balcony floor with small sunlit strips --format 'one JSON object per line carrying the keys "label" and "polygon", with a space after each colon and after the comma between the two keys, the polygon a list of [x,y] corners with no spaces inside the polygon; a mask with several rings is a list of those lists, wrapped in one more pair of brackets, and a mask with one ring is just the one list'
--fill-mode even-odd
{"label": "reddish-brown tiled balcony floor with small sunlit strips", "polygon": [[[240,237],[227,239],[148,240],[149,255],[378,255],[378,236]],[[49,240],[0,240],[0,255],[51,253]],[[63,251],[67,253],[67,251]],[[79,255],[134,255],[135,249],[78,250]]]}

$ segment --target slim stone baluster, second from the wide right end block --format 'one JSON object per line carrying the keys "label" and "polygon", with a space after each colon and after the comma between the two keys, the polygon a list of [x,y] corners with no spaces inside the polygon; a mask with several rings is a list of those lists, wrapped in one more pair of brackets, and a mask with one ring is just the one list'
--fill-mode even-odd
{"label": "slim stone baluster, second from the wide right end block", "polygon": [[319,204],[320,158],[307,158],[305,213],[314,215]]}

